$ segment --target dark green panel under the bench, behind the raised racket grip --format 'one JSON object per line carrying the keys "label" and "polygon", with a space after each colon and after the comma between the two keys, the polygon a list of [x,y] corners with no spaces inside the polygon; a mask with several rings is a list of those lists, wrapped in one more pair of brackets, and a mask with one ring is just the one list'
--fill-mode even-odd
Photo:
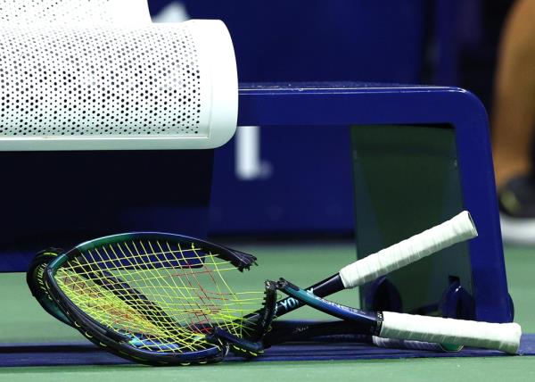
{"label": "dark green panel under the bench, behind the raised racket grip", "polygon": [[[351,140],[359,257],[464,209],[453,129],[358,126],[351,128]],[[455,245],[388,278],[399,290],[403,310],[416,311],[439,302],[449,277],[472,291],[468,245]],[[368,291],[365,286],[361,299]]]}

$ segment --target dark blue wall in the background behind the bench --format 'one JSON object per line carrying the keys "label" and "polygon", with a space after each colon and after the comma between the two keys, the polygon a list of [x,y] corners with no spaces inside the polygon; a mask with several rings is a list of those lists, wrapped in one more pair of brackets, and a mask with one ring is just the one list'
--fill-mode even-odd
{"label": "dark blue wall in the background behind the bench", "polygon": [[[152,13],[169,11],[170,3],[152,0]],[[486,54],[491,61],[498,33],[490,43],[485,39],[487,3],[181,2],[192,18],[226,22],[241,82],[350,80],[443,85],[463,85],[461,66],[471,60],[467,52],[476,52],[480,58]],[[506,9],[510,1],[498,3]],[[492,4],[493,10],[500,12],[497,3]],[[505,12],[501,14],[503,17]],[[498,29],[495,24],[492,30]],[[488,85],[481,88],[488,93]],[[484,100],[488,98],[483,95]],[[258,134],[259,145],[253,150],[263,169],[257,177],[241,179],[236,172],[237,139],[216,151],[210,232],[352,232],[349,129],[260,127]]]}

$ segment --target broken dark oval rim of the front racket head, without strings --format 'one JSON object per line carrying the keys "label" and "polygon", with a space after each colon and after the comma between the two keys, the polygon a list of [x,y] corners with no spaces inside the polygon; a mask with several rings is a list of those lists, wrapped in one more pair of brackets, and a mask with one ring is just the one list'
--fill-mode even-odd
{"label": "broken dark oval rim of the front racket head, without strings", "polygon": [[[55,257],[53,257],[53,259],[47,264],[45,272],[43,274],[44,285],[46,290],[48,291],[48,295],[52,297],[53,302],[60,308],[60,311],[69,319],[69,322],[67,322],[68,324],[70,324],[74,328],[77,328],[78,331],[80,331],[84,336],[86,336],[96,345],[102,346],[111,353],[115,353],[123,358],[150,365],[185,365],[191,363],[209,363],[220,361],[225,357],[226,353],[228,352],[228,345],[223,341],[219,340],[212,340],[210,341],[210,343],[207,342],[208,346],[206,346],[206,348],[204,349],[198,351],[188,350],[184,353],[174,352],[174,350],[177,349],[172,348],[169,348],[169,350],[171,351],[170,353],[162,352],[161,345],[154,346],[155,348],[159,348],[158,351],[146,350],[147,346],[145,344],[142,344],[144,345],[144,349],[136,347],[136,342],[138,341],[133,339],[132,336],[125,336],[124,334],[118,333],[116,330],[113,330],[113,328],[106,328],[105,326],[101,325],[98,321],[94,320],[90,315],[88,315],[86,311],[80,309],[76,303],[73,303],[70,298],[65,295],[65,293],[63,293],[62,287],[58,285],[57,280],[54,277],[56,272],[62,268],[63,264],[77,258],[77,256],[79,256],[82,252],[98,248],[101,245],[106,245],[109,243],[120,243],[125,240],[136,240],[141,237],[149,237],[151,239],[158,240],[175,240],[182,243],[202,245],[203,250],[210,251],[210,253],[217,253],[215,254],[215,256],[225,260],[226,262],[230,262],[235,267],[235,269],[239,271],[249,270],[252,265],[256,264],[256,257],[248,253],[231,250],[229,248],[220,245],[215,245],[213,243],[206,242],[193,237],[162,233],[136,233],[114,235],[111,237],[102,237],[93,241],[83,243],[68,252],[57,254]],[[116,260],[116,262],[120,262],[120,259]],[[181,262],[181,260],[174,262],[177,262],[177,269],[179,269],[180,267],[178,266],[178,263]],[[167,265],[169,266],[169,264]],[[198,266],[202,267],[202,264],[199,264]],[[175,321],[172,317],[169,317],[169,315],[165,311],[161,310],[157,303],[153,303],[148,297],[143,295],[143,293],[136,290],[136,288],[129,286],[127,282],[120,279],[119,277],[111,274],[105,274],[105,272],[104,277],[102,277],[102,275],[99,275],[99,277],[92,277],[91,273],[97,271],[95,269],[92,269],[92,267],[94,267],[94,265],[89,266],[83,263],[81,265],[78,265],[78,268],[84,270],[83,272],[80,272],[80,274],[83,275],[84,278],[89,278],[91,281],[98,283],[99,287],[102,287],[104,290],[111,292],[120,300],[123,300],[127,303],[129,301],[135,300],[136,305],[134,306],[134,308],[142,308],[141,311],[144,313],[146,313],[147,311],[151,313],[155,312],[157,315],[157,319],[159,321],[164,320],[168,328],[180,328],[179,323],[177,323],[177,321]],[[187,269],[192,268],[190,265],[185,265],[185,267]],[[100,270],[99,272],[103,273]],[[272,287],[271,289],[266,289],[264,300],[264,308],[261,311],[263,312],[263,316],[266,317],[266,319],[264,320],[265,325],[268,325],[271,320],[270,316],[273,314],[272,312],[274,312],[275,309],[276,294],[274,287]],[[39,303],[41,303],[44,307],[46,306],[47,308],[50,308],[48,306],[47,300],[45,299],[39,300]],[[46,310],[51,312],[56,318],[59,318],[58,311],[51,309]],[[61,315],[59,316],[61,317]],[[148,316],[147,314],[145,314],[145,317],[150,319],[150,316]],[[256,329],[259,332],[264,332],[266,329],[262,327],[261,322],[261,319],[257,322]],[[256,335],[253,333],[252,336],[252,339],[256,341]]]}

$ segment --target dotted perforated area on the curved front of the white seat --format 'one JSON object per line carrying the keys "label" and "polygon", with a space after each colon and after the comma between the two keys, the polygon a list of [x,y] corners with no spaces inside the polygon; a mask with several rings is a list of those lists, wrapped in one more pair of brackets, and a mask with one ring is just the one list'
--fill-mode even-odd
{"label": "dotted perforated area on the curved front of the white seat", "polygon": [[207,133],[187,22],[1,33],[0,136]]}

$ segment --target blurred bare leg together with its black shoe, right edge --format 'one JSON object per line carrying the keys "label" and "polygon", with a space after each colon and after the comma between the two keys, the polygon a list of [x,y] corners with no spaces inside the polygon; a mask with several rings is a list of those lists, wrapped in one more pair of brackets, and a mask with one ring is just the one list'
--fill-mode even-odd
{"label": "blurred bare leg together with its black shoe, right edge", "polygon": [[535,245],[535,0],[517,0],[506,19],[491,125],[502,237]]}

